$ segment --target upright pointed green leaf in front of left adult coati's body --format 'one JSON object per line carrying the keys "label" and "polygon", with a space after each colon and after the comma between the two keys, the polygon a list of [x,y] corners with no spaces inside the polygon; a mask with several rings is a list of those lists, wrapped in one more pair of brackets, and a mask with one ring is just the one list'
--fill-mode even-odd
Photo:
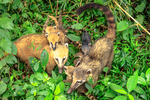
{"label": "upright pointed green leaf in front of left adult coati's body", "polygon": [[42,64],[42,66],[44,67],[44,70],[45,70],[46,65],[48,63],[48,60],[49,60],[49,54],[45,49],[42,51],[40,59],[41,59],[41,64]]}

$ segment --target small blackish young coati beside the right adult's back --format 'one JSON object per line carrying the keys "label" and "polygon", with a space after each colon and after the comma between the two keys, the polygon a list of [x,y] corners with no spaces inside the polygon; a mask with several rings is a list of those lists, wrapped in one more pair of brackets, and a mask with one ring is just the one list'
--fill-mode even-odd
{"label": "small blackish young coati beside the right adult's back", "polygon": [[83,32],[81,50],[84,53],[84,55],[86,55],[86,52],[89,50],[91,45],[92,45],[91,36],[88,34],[87,31]]}

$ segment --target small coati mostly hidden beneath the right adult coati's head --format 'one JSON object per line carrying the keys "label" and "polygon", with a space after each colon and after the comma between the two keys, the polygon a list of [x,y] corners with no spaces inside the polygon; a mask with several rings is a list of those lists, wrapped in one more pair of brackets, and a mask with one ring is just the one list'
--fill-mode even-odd
{"label": "small coati mostly hidden beneath the right adult coati's head", "polygon": [[[71,83],[72,82],[72,75],[73,75],[73,71],[74,71],[75,67],[73,66],[64,66],[64,71],[65,73],[67,74],[67,78],[66,80],[64,80],[63,82],[69,82]],[[87,93],[88,92],[88,89],[85,87],[85,83],[82,84],[81,86],[79,86],[77,88],[77,91],[79,93]],[[91,94],[88,94],[86,95],[90,100],[96,100],[95,97]]]}

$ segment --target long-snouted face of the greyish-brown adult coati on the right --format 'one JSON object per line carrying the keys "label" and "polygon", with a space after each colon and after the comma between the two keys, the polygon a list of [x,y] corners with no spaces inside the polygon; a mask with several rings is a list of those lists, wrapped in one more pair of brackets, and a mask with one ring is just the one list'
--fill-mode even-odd
{"label": "long-snouted face of the greyish-brown adult coati on the right", "polygon": [[88,76],[92,73],[92,69],[82,69],[75,67],[72,78],[72,84],[68,89],[67,93],[71,93],[73,90],[78,88],[80,85],[87,81]]}

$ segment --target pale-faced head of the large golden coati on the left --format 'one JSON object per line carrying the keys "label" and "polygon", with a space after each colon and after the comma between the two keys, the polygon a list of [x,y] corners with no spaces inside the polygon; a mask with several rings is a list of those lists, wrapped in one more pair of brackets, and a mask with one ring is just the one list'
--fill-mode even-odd
{"label": "pale-faced head of the large golden coati on the left", "polygon": [[53,58],[58,65],[59,73],[63,72],[64,64],[67,62],[68,59],[68,43],[65,43],[63,45],[57,45],[57,49],[55,51],[52,51]]}

